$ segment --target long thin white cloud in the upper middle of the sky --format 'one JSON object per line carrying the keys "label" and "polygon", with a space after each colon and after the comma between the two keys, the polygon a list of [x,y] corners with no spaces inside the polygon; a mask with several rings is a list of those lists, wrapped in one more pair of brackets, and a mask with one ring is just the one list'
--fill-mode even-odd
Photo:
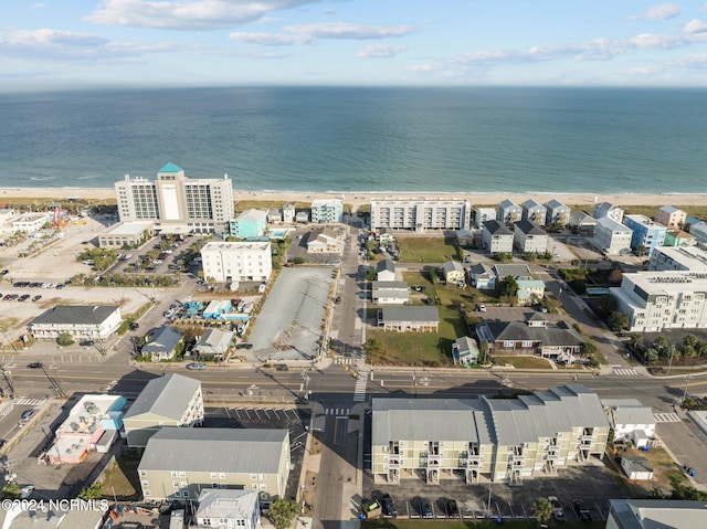
{"label": "long thin white cloud in the upper middle of the sky", "polygon": [[315,24],[287,25],[286,33],[234,32],[229,35],[239,42],[260,45],[302,45],[318,39],[378,40],[403,36],[411,33],[411,25],[358,25],[346,22],[320,22]]}

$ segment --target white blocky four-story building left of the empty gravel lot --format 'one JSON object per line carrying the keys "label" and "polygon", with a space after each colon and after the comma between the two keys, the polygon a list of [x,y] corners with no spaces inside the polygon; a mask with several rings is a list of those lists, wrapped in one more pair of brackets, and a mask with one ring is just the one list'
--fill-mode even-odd
{"label": "white blocky four-story building left of the empty gravel lot", "polygon": [[210,242],[201,248],[203,277],[215,282],[264,282],[273,272],[267,242]]}

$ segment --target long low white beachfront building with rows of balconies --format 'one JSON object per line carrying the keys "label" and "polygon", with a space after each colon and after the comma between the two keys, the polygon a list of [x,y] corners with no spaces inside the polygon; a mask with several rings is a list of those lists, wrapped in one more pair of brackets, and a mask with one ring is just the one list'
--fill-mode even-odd
{"label": "long low white beachfront building with rows of balconies", "polygon": [[371,230],[468,229],[471,208],[460,199],[372,199]]}

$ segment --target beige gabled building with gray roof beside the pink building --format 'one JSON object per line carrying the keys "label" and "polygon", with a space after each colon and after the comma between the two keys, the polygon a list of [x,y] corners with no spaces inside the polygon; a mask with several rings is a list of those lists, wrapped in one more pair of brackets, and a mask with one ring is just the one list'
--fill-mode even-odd
{"label": "beige gabled building with gray roof beside the pink building", "polygon": [[123,419],[128,446],[144,447],[162,427],[203,422],[201,382],[181,374],[150,380]]}

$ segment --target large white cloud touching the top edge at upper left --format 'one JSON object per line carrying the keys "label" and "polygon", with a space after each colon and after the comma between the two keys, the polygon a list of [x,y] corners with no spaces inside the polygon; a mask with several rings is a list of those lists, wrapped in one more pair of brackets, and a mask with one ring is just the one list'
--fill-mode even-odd
{"label": "large white cloud touching the top edge at upper left", "polygon": [[104,0],[85,20],[97,24],[211,30],[253,22],[318,0]]}

